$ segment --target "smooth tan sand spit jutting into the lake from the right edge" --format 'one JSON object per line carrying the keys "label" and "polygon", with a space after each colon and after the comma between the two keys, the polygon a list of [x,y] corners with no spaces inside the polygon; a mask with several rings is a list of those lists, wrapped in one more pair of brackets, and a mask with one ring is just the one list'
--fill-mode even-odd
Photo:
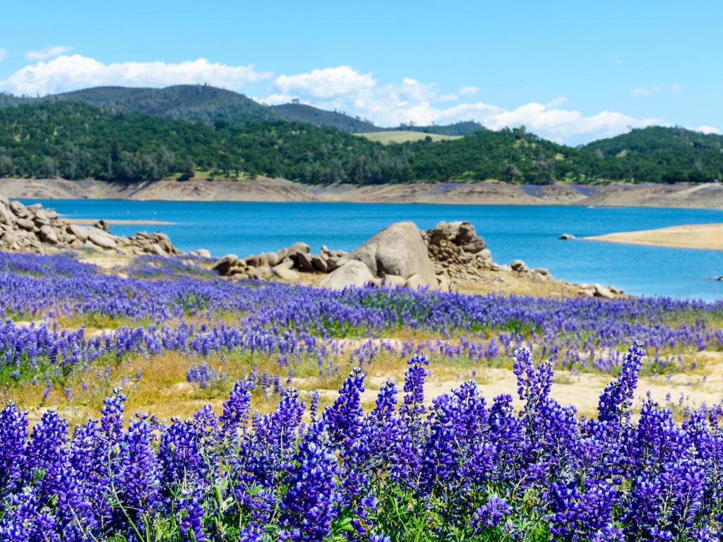
{"label": "smooth tan sand spit jutting into the lake from the right edge", "polygon": [[723,250],[723,224],[678,225],[656,230],[623,231],[586,237],[592,241]]}

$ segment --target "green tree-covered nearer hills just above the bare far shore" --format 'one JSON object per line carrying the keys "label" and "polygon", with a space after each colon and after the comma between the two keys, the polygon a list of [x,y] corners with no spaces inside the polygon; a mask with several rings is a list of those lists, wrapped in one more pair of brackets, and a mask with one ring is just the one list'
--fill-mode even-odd
{"label": "green tree-covered nearer hills just above the bare far shore", "polygon": [[[110,92],[110,91],[108,91]],[[306,183],[672,182],[722,178],[723,137],[635,130],[566,147],[523,128],[381,145],[334,128],[278,120],[192,123],[69,100],[0,108],[0,176],[138,181],[196,172]]]}

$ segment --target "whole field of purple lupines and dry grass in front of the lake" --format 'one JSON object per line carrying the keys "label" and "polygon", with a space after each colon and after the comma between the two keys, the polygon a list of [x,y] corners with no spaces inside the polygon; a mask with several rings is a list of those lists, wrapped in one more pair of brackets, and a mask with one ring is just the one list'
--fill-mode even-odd
{"label": "whole field of purple lupines and dry grass in front of the lake", "polygon": [[0,252],[1,540],[721,537],[723,302],[208,267]]}

